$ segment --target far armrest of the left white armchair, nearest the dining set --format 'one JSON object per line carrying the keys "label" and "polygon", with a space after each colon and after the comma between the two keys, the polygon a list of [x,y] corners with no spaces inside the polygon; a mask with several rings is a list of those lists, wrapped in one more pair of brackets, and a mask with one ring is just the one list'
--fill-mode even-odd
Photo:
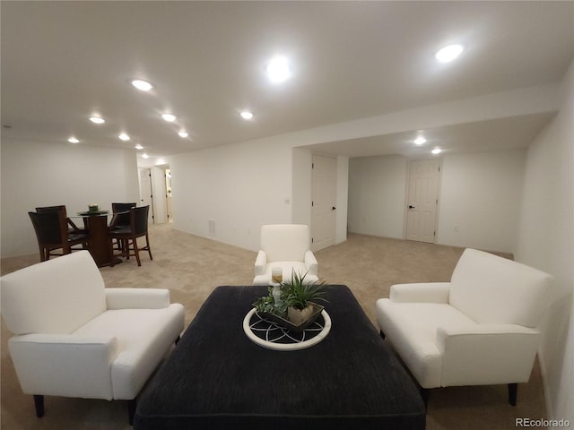
{"label": "far armrest of the left white armchair, nearest the dining set", "polygon": [[108,309],[161,309],[170,305],[164,288],[106,288]]}

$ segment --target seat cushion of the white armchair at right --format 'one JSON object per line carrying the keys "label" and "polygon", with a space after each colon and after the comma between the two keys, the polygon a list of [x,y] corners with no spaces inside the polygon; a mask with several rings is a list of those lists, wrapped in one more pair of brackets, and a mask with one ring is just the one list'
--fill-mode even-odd
{"label": "seat cushion of the white armchair at right", "polygon": [[437,329],[476,325],[448,304],[396,303],[387,298],[377,301],[377,321],[422,388],[441,386],[442,357],[435,342]]}

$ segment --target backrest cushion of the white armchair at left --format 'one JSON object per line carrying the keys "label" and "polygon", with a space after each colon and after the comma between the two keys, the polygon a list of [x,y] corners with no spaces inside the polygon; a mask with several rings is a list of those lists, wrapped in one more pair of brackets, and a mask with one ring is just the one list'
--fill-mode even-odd
{"label": "backrest cushion of the white armchair at left", "polygon": [[2,316],[14,334],[71,333],[106,310],[104,281],[88,251],[0,279]]}

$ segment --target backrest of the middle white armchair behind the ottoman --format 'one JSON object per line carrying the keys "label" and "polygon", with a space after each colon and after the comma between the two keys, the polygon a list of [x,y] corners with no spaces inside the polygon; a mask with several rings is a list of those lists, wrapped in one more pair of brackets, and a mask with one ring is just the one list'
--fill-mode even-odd
{"label": "backrest of the middle white armchair behind the ottoman", "polygon": [[306,225],[272,224],[261,228],[261,249],[267,254],[267,262],[302,262],[309,247]]}

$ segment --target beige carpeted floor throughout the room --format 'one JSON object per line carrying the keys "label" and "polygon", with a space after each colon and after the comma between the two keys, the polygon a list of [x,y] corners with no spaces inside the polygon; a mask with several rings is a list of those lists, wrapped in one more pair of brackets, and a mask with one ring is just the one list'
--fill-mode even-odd
{"label": "beige carpeted floor throughout the room", "polygon": [[[113,268],[102,268],[108,287],[169,288],[171,300],[186,308],[186,326],[205,298],[219,285],[249,285],[256,253],[188,235],[170,224],[150,230],[153,261],[143,254]],[[388,297],[392,284],[449,280],[463,249],[397,239],[349,235],[340,245],[316,253],[319,276],[352,289],[376,325],[375,302]],[[38,254],[2,260],[2,274],[39,262]],[[1,415],[4,430],[122,429],[127,424],[122,401],[65,399],[47,396],[46,416],[37,418],[31,396],[22,394],[6,348],[2,327]],[[507,387],[451,387],[431,391],[427,429],[513,429],[517,417],[545,417],[544,390],[536,364],[529,383],[518,387],[518,404],[507,401]],[[532,428],[532,427],[531,427]],[[358,429],[360,430],[360,429]]]}

